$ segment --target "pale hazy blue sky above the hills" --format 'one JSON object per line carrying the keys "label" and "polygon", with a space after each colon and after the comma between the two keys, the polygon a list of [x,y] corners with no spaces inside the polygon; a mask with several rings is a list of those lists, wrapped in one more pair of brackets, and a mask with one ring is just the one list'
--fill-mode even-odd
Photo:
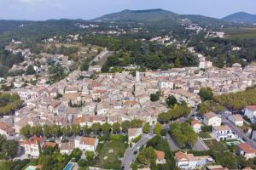
{"label": "pale hazy blue sky above the hills", "polygon": [[124,9],[150,8],[222,18],[240,11],[256,14],[256,0],[0,0],[0,19],[90,20]]}

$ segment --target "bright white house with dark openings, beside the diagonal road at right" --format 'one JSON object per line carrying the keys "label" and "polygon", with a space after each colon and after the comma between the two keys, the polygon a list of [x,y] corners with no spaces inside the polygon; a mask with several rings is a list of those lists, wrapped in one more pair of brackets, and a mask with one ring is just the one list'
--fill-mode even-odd
{"label": "bright white house with dark openings, beside the diagonal road at right", "polygon": [[212,127],[212,135],[218,141],[235,139],[235,135],[232,133],[232,130],[226,125]]}

